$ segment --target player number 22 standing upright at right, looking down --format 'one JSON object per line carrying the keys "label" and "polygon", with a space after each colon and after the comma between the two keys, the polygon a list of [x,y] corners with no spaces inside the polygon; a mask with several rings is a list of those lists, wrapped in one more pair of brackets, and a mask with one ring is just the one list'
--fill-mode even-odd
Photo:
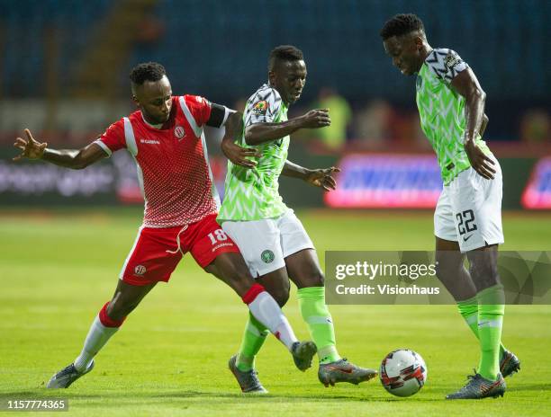
{"label": "player number 22 standing upright at right, looking down", "polygon": [[[501,344],[503,287],[497,272],[501,168],[482,140],[485,93],[472,69],[451,49],[430,47],[420,18],[397,14],[381,30],[384,50],[403,75],[417,75],[420,123],[434,148],[443,191],[434,215],[438,279],[480,342],[474,377],[448,399],[503,395],[503,377],[519,359]],[[470,269],[464,268],[465,254]]]}

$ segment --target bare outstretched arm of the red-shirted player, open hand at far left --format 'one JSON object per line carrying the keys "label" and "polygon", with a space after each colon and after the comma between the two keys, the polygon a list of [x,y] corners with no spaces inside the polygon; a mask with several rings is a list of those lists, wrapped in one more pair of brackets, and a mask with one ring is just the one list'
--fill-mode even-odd
{"label": "bare outstretched arm of the red-shirted player, open hand at far left", "polygon": [[95,143],[81,149],[49,149],[46,142],[38,142],[32,138],[31,130],[25,129],[24,132],[26,138],[15,139],[14,146],[22,151],[14,157],[15,162],[23,158],[41,159],[66,168],[83,169],[107,156]]}

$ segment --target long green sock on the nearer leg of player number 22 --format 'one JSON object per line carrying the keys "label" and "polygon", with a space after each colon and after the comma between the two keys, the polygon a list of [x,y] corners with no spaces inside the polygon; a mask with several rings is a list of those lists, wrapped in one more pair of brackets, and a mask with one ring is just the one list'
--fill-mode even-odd
{"label": "long green sock on the nearer leg of player number 22", "polygon": [[495,380],[500,372],[500,341],[503,325],[503,286],[494,285],[483,289],[478,298],[478,337],[481,359],[478,373],[486,379]]}

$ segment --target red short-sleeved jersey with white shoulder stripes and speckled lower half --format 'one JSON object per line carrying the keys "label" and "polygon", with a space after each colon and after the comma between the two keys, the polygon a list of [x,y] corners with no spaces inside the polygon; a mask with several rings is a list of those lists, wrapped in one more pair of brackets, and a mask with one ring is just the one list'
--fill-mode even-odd
{"label": "red short-sleeved jersey with white shoulder stripes and speckled lower half", "polygon": [[143,226],[184,226],[220,208],[203,135],[210,116],[211,103],[203,97],[175,96],[161,129],[135,111],[95,141],[107,155],[124,147],[136,160],[145,200]]}

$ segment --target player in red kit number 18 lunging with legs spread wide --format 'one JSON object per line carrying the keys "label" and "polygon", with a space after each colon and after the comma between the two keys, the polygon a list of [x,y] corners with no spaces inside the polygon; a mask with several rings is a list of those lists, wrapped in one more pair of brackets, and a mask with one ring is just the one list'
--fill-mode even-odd
{"label": "player in red kit number 18 lunging with legs spread wide", "polygon": [[[203,127],[225,127],[226,136],[240,129],[241,115],[194,95],[173,96],[165,68],[144,63],[131,71],[132,98],[138,111],[113,123],[81,149],[56,150],[32,138],[16,138],[22,158],[41,159],[83,169],[126,148],[136,160],[145,200],[143,225],[122,266],[111,301],[95,317],[83,350],[68,367],[51,377],[49,388],[67,388],[94,368],[94,357],[158,281],[167,282],[189,252],[204,271],[227,283],[251,313],[291,351],[297,368],[305,370],[316,352],[313,342],[299,342],[266,290],[255,283],[239,249],[216,223],[220,207],[204,144]],[[224,153],[235,163],[252,166],[256,151],[224,140]],[[255,377],[251,375],[250,377]]]}

